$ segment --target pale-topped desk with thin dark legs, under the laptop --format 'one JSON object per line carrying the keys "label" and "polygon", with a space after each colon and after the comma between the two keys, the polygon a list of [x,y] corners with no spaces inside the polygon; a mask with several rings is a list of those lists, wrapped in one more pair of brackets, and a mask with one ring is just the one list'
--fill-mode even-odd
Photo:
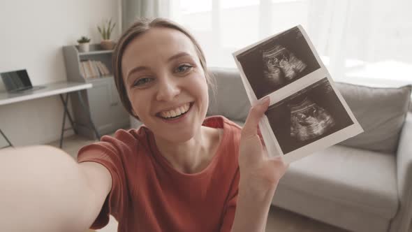
{"label": "pale-topped desk with thin dark legs, under the laptop", "polygon": [[[68,130],[65,129],[65,124],[66,124],[66,117],[70,120],[71,123],[71,128],[75,133],[78,133],[75,129],[75,122],[73,121],[70,113],[68,112],[67,104],[68,104],[68,94],[70,93],[77,93],[80,104],[82,105],[82,110],[84,110],[87,113],[86,106],[84,105],[84,101],[82,99],[82,94],[81,90],[83,89],[90,89],[93,87],[93,85],[89,83],[82,83],[82,82],[55,82],[55,83],[50,83],[47,85],[43,85],[43,89],[36,89],[36,90],[27,90],[24,92],[17,92],[17,93],[8,93],[8,92],[0,92],[0,106],[11,104],[11,103],[17,103],[20,101],[29,101],[33,99],[39,99],[47,96],[54,96],[59,94],[61,103],[63,103],[64,107],[64,114],[63,114],[63,124],[61,126],[61,136],[60,136],[60,147],[63,144],[63,135],[64,131]],[[64,96],[63,94],[66,94]],[[89,115],[89,114],[88,114]],[[91,120],[91,117],[89,115],[89,123],[92,129],[94,129],[94,133],[96,133],[96,137],[100,138],[100,135],[98,134],[96,127],[94,126],[93,121]],[[10,143],[10,140],[6,137],[6,134],[3,133],[0,129],[1,136],[6,139],[8,146],[6,147],[13,147],[12,143]],[[4,148],[4,147],[1,147]]]}

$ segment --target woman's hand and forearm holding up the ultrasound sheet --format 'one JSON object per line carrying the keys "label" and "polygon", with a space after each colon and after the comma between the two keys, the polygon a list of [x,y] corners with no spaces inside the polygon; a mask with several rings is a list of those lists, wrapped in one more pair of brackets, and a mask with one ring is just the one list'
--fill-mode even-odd
{"label": "woman's hand and forearm holding up the ultrasound sheet", "polygon": [[253,106],[242,129],[239,194],[232,232],[265,231],[272,196],[288,168],[281,157],[268,156],[258,135],[258,122],[268,106],[268,98]]}

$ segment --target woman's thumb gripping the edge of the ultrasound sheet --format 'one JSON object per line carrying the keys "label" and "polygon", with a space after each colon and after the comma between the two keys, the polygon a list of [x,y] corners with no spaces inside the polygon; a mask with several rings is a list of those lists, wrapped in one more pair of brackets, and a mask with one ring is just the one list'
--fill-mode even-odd
{"label": "woman's thumb gripping the edge of the ultrasound sheet", "polygon": [[263,114],[269,107],[270,98],[266,96],[264,99],[260,99],[255,106],[252,106],[247,115],[246,122],[242,129],[242,136],[254,136],[258,134],[258,124]]}

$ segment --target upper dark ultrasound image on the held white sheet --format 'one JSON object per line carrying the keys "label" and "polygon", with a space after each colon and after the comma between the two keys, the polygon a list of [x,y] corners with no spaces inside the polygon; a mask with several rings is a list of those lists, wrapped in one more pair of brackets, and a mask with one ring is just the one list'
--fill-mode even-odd
{"label": "upper dark ultrasound image on the held white sheet", "polygon": [[236,56],[258,99],[321,66],[298,27]]}

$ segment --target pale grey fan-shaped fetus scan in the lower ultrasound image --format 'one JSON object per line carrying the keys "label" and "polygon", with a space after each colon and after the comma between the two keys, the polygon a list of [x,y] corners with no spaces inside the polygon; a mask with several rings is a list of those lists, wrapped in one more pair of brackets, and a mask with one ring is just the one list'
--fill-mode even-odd
{"label": "pale grey fan-shaped fetus scan in the lower ultrasound image", "polygon": [[323,135],[335,124],[327,110],[305,98],[300,103],[289,105],[290,137],[305,141]]}

